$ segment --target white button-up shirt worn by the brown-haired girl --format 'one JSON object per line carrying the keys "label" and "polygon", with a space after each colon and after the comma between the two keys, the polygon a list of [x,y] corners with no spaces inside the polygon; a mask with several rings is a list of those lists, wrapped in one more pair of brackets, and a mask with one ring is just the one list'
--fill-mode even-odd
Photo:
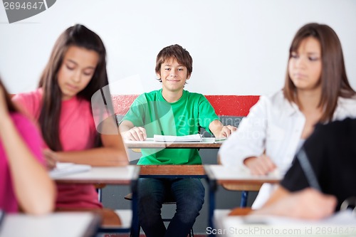
{"label": "white button-up shirt worn by the brown-haired girl", "polygon": [[[356,98],[338,98],[333,120],[356,117]],[[290,103],[278,91],[261,96],[251,107],[239,128],[221,145],[219,157],[223,165],[246,169],[244,159],[258,157],[263,152],[272,159],[280,174],[285,174],[298,152],[305,117],[295,103]],[[273,185],[263,184],[253,209],[260,208],[271,195]]]}

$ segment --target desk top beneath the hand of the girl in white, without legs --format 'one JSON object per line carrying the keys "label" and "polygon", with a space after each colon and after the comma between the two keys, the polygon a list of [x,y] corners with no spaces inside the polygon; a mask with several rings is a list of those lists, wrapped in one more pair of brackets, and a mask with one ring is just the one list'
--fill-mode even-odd
{"label": "desk top beneath the hand of the girl in white, without legs", "polygon": [[219,184],[276,184],[282,179],[278,174],[256,176],[243,169],[233,169],[218,164],[206,164],[204,169],[209,179],[216,180]]}

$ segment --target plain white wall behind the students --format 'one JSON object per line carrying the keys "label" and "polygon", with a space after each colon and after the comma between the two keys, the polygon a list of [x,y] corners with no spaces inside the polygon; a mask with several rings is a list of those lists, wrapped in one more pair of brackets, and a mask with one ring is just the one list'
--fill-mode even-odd
{"label": "plain white wall behind the students", "polygon": [[283,86],[290,41],[312,21],[335,29],[356,88],[355,0],[57,0],[11,24],[0,5],[0,74],[11,93],[33,90],[58,35],[83,23],[103,38],[113,93],[160,88],[155,57],[179,43],[194,60],[187,90],[263,95]]}

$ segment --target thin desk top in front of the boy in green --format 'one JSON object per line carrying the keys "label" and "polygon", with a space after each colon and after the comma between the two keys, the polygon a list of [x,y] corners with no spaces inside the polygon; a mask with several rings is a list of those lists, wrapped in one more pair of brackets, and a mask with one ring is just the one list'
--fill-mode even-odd
{"label": "thin desk top in front of the boy in green", "polygon": [[212,139],[205,138],[203,142],[154,142],[125,140],[126,147],[132,148],[219,148],[222,142],[212,142]]}

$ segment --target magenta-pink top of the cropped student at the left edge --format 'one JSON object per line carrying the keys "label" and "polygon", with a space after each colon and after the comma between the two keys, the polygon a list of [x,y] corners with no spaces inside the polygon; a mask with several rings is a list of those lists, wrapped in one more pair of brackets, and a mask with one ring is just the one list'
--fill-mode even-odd
{"label": "magenta-pink top of the cropped student at the left edge", "polygon": [[[24,142],[31,149],[38,162],[44,164],[42,156],[42,138],[35,125],[26,117],[19,113],[11,113],[17,130],[19,131]],[[6,212],[17,212],[19,207],[12,187],[11,174],[8,164],[8,157],[0,141],[0,209]]]}

